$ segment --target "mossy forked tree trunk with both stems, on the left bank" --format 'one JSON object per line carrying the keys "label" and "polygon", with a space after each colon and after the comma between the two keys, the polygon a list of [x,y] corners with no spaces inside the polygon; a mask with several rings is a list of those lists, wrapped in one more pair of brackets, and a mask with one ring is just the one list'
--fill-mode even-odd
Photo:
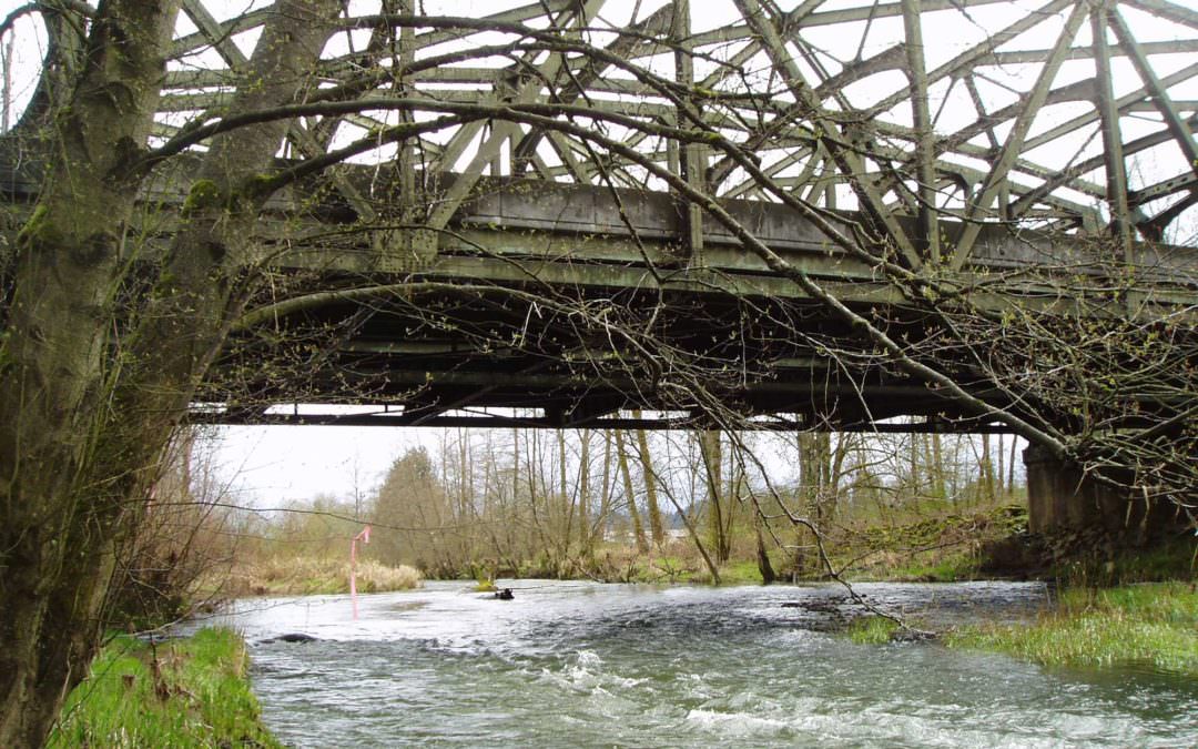
{"label": "mossy forked tree trunk with both stems, on the left bank", "polygon": [[[329,26],[316,22],[337,4],[284,5],[292,12],[267,24],[234,107],[292,101],[323,47]],[[114,554],[244,298],[234,268],[265,197],[240,186],[271,167],[286,127],[213,139],[201,192],[223,199],[193,206],[157,282],[122,296],[141,265],[127,225],[176,12],[169,0],[102,2],[74,89],[42,134],[52,156],[0,342],[2,747],[41,745],[84,676]]]}

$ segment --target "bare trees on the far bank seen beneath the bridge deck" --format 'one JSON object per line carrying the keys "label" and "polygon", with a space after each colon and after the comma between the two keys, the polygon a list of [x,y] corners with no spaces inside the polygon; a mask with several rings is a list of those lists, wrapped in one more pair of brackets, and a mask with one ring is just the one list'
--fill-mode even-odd
{"label": "bare trees on the far bank seen beneath the bridge deck", "polygon": [[[438,578],[604,575],[603,555],[787,564],[837,524],[1010,502],[1016,441],[994,435],[643,430],[447,431],[387,471],[370,554]],[[1004,449],[1005,448],[1005,449]]]}

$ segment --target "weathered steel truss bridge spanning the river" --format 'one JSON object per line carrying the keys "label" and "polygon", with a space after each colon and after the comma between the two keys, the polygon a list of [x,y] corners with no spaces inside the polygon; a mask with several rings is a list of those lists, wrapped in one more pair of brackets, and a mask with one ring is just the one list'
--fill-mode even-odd
{"label": "weathered steel truss bridge spanning the river", "polygon": [[[69,53],[80,18],[48,5]],[[187,139],[232,116],[262,24],[295,5],[182,0],[150,145],[187,147],[146,191],[149,247],[194,188]],[[0,141],[18,213],[49,78]],[[746,234],[901,339],[930,278],[994,314],[1198,304],[1181,1],[351,1],[298,104],[295,179],[258,224],[273,291],[196,419],[661,425],[722,403],[775,427],[986,428]],[[1103,297],[1112,267],[1137,283]]]}

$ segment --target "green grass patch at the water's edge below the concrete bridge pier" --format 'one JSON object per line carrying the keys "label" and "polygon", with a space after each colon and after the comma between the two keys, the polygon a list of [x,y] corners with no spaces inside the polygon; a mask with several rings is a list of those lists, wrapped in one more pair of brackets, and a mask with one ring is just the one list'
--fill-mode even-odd
{"label": "green grass patch at the water's edge below the concrete bridge pier", "polygon": [[1146,665],[1198,677],[1198,591],[1188,582],[1070,590],[1033,624],[970,627],[946,642],[1045,665]]}

